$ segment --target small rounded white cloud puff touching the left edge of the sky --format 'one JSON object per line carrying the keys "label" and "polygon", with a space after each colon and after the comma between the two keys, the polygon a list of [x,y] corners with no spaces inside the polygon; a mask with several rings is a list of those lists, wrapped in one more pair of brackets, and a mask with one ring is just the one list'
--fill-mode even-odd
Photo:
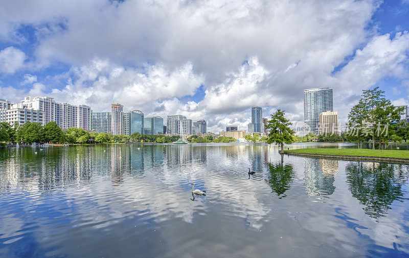
{"label": "small rounded white cloud puff touching the left edge of the sky", "polygon": [[14,73],[24,66],[26,54],[20,49],[12,46],[0,51],[0,72]]}

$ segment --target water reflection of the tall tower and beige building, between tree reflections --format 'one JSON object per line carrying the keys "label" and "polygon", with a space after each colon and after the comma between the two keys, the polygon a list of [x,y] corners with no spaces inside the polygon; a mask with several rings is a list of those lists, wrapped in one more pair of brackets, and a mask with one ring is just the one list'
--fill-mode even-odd
{"label": "water reflection of the tall tower and beige building, between tree reflections", "polygon": [[305,160],[305,190],[309,195],[331,195],[335,191],[334,175],[338,161],[328,159]]}

